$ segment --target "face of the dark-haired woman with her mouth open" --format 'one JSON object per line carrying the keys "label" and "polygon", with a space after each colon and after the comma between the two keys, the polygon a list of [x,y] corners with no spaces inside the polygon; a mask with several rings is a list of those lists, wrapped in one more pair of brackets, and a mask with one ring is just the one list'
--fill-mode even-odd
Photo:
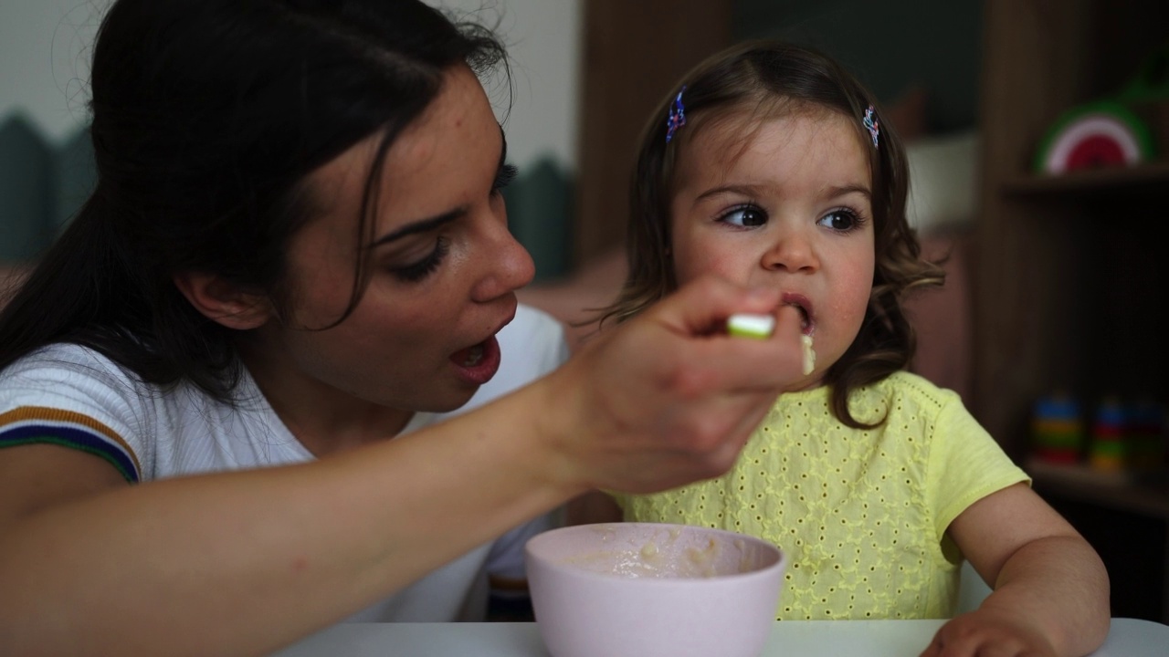
{"label": "face of the dark-haired woman with her mouth open", "polygon": [[[389,148],[373,243],[364,245],[358,216],[378,139],[310,177],[324,212],[291,244],[292,317],[261,327],[268,358],[249,367],[268,371],[257,381],[270,397],[279,387],[295,390],[289,399],[343,408],[451,410],[494,375],[494,334],[534,275],[499,194],[513,171],[479,81],[456,67]],[[359,248],[368,249],[368,288],[348,318],[314,330],[350,303]]]}

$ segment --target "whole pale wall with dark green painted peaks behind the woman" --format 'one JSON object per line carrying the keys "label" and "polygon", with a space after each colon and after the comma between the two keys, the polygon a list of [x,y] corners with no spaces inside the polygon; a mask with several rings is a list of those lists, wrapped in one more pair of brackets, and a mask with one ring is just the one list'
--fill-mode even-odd
{"label": "whole pale wall with dark green painted peaks behind the woman", "polygon": [[[428,0],[496,26],[512,57],[509,159],[521,175],[510,202],[538,271],[562,267],[576,168],[582,0]],[[88,61],[108,0],[0,2],[0,262],[33,257],[84,198],[71,166],[85,166]],[[492,90],[503,110],[506,94]],[[75,154],[82,150],[81,155]],[[6,153],[8,155],[6,157]],[[33,171],[29,161],[41,162]],[[64,161],[69,167],[58,166]],[[76,162],[81,162],[77,165]],[[84,179],[84,173],[82,174]],[[34,192],[37,185],[68,189]],[[19,208],[19,209],[12,209]],[[551,210],[547,208],[552,208]],[[37,215],[47,215],[41,226]],[[548,221],[547,215],[556,215]],[[553,235],[549,242],[545,235]],[[546,243],[546,244],[545,244]]]}

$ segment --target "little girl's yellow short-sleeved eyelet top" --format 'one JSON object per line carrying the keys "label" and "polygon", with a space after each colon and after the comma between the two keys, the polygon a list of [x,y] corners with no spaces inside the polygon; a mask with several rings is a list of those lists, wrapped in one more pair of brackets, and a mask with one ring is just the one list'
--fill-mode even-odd
{"label": "little girl's yellow short-sleeved eyelet top", "polygon": [[629,521],[683,523],[774,541],[788,559],[777,620],[943,618],[961,554],[946,528],[1019,482],[959,396],[898,372],[849,400],[872,430],[836,420],[829,389],[781,395],[718,479],[617,495]]}

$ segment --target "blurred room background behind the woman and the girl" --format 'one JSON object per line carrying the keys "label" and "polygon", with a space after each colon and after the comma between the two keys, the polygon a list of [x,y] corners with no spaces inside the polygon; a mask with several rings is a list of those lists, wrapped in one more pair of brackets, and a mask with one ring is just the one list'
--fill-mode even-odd
{"label": "blurred room background behind the woman and the girl", "polygon": [[[574,347],[624,276],[634,145],[678,77],[749,37],[839,58],[906,141],[911,223],[948,274],[909,300],[914,371],[957,390],[1095,545],[1114,615],[1169,621],[1169,0],[433,4],[510,44],[509,220],[537,262],[520,297]],[[0,4],[0,276],[91,188],[84,81],[105,5]],[[1071,130],[1100,116],[1135,157]],[[1075,134],[1085,157],[1045,168]]]}

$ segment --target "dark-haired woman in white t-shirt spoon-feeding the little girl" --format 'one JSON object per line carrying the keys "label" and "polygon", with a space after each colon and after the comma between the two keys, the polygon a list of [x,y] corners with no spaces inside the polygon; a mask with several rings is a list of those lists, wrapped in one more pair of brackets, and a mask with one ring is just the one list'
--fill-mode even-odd
{"label": "dark-haired woman in white t-shirt spoon-feeding the little girl", "polygon": [[705,279],[552,371],[476,76],[502,57],[416,1],[112,5],[97,187],[0,316],[5,652],[466,617],[533,519],[731,465],[796,313],[727,339],[779,299]]}

